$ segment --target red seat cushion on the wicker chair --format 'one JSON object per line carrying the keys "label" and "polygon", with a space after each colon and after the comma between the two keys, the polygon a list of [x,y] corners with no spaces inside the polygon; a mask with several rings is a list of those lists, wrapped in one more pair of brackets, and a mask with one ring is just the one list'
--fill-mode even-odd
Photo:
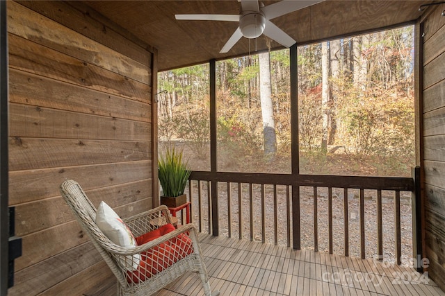
{"label": "red seat cushion on the wicker chair", "polygon": [[[156,229],[153,231],[155,234],[152,234],[152,232],[143,234],[142,236],[138,236],[136,241],[138,242],[138,245],[147,243],[175,230],[173,225],[171,225],[171,227],[168,226],[168,224],[163,225],[163,227],[159,228],[161,230]],[[157,234],[160,235],[156,236]],[[149,277],[152,277],[152,275],[158,274],[173,263],[184,259],[187,255],[192,253],[193,243],[191,238],[186,234],[179,234],[170,239],[170,241],[156,245],[155,247],[152,247],[152,249],[143,252],[141,254],[138,269],[127,271],[127,281],[129,284],[138,284],[141,281],[145,281],[146,279],[149,279]]]}

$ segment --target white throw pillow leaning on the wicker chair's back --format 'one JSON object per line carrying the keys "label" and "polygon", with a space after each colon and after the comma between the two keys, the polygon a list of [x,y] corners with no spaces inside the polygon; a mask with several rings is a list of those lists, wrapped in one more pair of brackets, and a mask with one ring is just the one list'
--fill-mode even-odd
{"label": "white throw pillow leaning on the wicker chair's back", "polygon": [[[96,224],[106,237],[116,245],[121,247],[136,247],[138,245],[127,224],[103,201],[97,207]],[[121,263],[125,268],[135,270],[138,268],[139,261],[140,255],[136,254],[133,257],[127,256],[127,259],[121,261]]]}

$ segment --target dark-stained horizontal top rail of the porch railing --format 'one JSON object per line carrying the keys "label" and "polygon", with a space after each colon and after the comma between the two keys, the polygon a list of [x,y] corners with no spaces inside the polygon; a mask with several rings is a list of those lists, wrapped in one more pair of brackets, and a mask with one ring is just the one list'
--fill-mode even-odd
{"label": "dark-stained horizontal top rail of the porch railing", "polygon": [[190,180],[234,182],[250,184],[276,184],[291,186],[317,186],[350,189],[414,191],[412,177],[374,177],[345,175],[292,175],[271,173],[228,173],[193,171]]}

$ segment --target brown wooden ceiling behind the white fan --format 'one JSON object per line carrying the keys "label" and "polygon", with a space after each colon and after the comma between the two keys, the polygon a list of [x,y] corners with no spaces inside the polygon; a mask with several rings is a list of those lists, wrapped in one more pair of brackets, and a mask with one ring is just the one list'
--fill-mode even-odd
{"label": "brown wooden ceiling behind the white fan", "polygon": [[[175,19],[175,14],[237,15],[241,3],[236,0],[83,2],[142,42],[156,48],[159,71],[244,55],[255,49],[255,41],[249,42],[243,37],[228,53],[219,53],[236,30],[236,22]],[[267,6],[276,1],[262,2]],[[307,43],[413,21],[422,13],[419,12],[419,6],[430,2],[326,0],[272,21],[297,43]],[[266,43],[266,37],[258,37],[257,49],[268,49]],[[272,49],[282,47],[276,42],[270,45]]]}

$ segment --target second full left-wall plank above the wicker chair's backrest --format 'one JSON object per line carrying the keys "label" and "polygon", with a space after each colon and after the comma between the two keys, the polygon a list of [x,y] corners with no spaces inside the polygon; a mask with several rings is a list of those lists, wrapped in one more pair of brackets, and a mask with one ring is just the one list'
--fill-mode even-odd
{"label": "second full left-wall plank above the wicker chair's backrest", "polygon": [[147,122],[9,104],[10,137],[150,141]]}

